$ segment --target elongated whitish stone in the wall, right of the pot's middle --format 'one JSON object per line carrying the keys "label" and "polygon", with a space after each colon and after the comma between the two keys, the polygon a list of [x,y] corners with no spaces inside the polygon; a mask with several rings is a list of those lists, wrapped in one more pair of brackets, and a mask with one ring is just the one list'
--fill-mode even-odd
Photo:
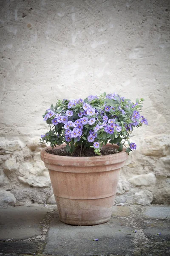
{"label": "elongated whitish stone in the wall, right of the pot's middle", "polygon": [[150,172],[148,174],[135,175],[129,179],[129,182],[135,186],[152,186],[156,184],[156,177]]}

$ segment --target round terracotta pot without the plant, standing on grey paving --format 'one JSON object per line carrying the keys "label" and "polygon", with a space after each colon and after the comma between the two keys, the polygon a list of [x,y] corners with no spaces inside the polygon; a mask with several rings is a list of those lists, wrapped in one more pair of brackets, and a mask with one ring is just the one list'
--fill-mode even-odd
{"label": "round terracotta pot without the plant, standing on grey paving", "polygon": [[65,157],[49,154],[45,151],[47,148],[51,147],[42,149],[41,160],[50,174],[60,220],[72,225],[94,225],[109,221],[119,172],[127,159],[127,153],[122,151],[97,157]]}

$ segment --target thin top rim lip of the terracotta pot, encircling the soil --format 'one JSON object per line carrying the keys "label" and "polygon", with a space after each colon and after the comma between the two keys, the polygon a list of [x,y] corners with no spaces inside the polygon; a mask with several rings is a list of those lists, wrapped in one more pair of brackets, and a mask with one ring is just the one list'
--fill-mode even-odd
{"label": "thin top rim lip of the terracotta pot, encircling the soil", "polygon": [[[62,144],[62,145],[58,145],[57,147],[64,147],[66,144]],[[111,144],[111,145],[109,145],[108,143],[105,145],[106,147],[108,147],[108,146],[110,146],[110,147],[115,147],[115,148],[118,148],[119,146],[118,145],[116,145],[116,144]],[[56,148],[57,148],[56,147]],[[60,155],[55,155],[55,154],[50,154],[50,153],[47,153],[46,152],[46,149],[47,148],[49,148],[49,149],[52,149],[52,147],[51,146],[47,146],[47,147],[45,147],[45,148],[43,148],[42,150],[41,150],[41,155],[43,154],[43,158],[47,158],[49,155],[51,156],[51,158],[53,158],[53,159],[60,159],[60,160],[64,160],[64,159],[66,159],[66,157],[68,157],[70,160],[72,159],[72,160],[76,160],[76,159],[81,159],[82,161],[83,160],[87,160],[88,158],[89,158],[89,160],[104,160],[104,158],[105,158],[105,160],[109,160],[110,158],[112,158],[113,159],[113,157],[116,157],[116,156],[118,156],[118,154],[119,154],[119,156],[120,155],[122,155],[122,156],[124,156],[125,157],[125,155],[126,155],[126,159],[127,159],[127,157],[128,157],[128,154],[125,152],[125,150],[126,150],[126,148],[124,147],[123,148],[123,151],[120,151],[120,152],[118,152],[118,153],[116,153],[116,154],[111,154],[111,155],[104,155],[104,156],[94,156],[94,157],[71,157],[71,156],[60,156]]]}

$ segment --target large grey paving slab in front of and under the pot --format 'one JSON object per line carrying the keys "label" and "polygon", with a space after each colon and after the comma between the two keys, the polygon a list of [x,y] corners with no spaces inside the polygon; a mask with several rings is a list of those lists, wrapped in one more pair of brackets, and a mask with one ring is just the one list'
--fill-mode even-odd
{"label": "large grey paving slab in front of and under the pot", "polygon": [[71,226],[59,221],[56,215],[51,221],[44,253],[59,256],[133,255],[135,233],[133,227],[126,227],[126,224],[126,220],[112,218],[100,225]]}

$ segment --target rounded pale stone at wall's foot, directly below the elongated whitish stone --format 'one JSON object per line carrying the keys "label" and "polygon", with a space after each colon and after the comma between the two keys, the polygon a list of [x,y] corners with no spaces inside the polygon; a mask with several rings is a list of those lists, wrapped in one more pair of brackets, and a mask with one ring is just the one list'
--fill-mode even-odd
{"label": "rounded pale stone at wall's foot, directly below the elongated whitish stone", "polygon": [[151,204],[153,201],[153,193],[147,189],[141,189],[135,192],[133,197],[134,204]]}

